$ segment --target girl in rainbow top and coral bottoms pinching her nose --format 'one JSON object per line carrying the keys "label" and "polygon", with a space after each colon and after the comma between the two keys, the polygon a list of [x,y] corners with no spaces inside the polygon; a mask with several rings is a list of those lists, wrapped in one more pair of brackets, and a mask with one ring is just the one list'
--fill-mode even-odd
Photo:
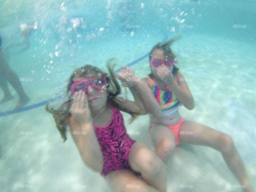
{"label": "girl in rainbow top and coral bottoms pinching her nose", "polygon": [[[139,82],[138,77],[129,67],[123,67],[126,76],[119,79],[126,86],[135,88],[130,90],[138,93],[146,111],[150,114],[149,134],[153,140],[156,154],[164,163],[167,163],[175,146],[181,142],[209,146],[222,153],[230,170],[244,186],[244,191],[251,192],[253,189],[249,177],[232,138],[200,123],[185,121],[179,114],[179,105],[182,104],[192,110],[194,99],[183,75],[174,65],[177,61],[170,45],[178,38],[179,36],[176,36],[165,43],[157,43],[150,51],[151,73],[148,75],[149,77],[142,79],[150,94],[145,94],[136,85],[136,82]],[[137,79],[137,81],[127,82],[127,77]],[[193,134],[182,134],[189,132]]]}

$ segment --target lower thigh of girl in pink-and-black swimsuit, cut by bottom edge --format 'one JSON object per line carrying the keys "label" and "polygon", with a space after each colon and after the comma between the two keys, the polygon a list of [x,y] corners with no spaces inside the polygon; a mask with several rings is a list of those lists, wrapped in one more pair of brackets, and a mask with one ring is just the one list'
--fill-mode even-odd
{"label": "lower thigh of girl in pink-and-black swimsuit, cut by bottom edge", "polygon": [[143,179],[139,179],[132,171],[120,169],[110,172],[106,176],[109,188],[114,192],[160,192],[149,186]]}

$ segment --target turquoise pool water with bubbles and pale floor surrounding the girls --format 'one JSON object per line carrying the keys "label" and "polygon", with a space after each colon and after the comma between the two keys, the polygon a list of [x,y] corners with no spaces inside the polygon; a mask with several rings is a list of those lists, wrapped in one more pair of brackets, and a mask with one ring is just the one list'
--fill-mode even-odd
{"label": "turquoise pool water with bubbles and pale floor surrounding the girls", "polygon": [[[70,135],[62,143],[40,103],[62,95],[77,67],[106,69],[115,57],[118,69],[179,33],[172,49],[195,100],[181,115],[231,135],[256,181],[255,15],[255,1],[0,1],[2,49],[20,40],[22,23],[37,26],[28,50],[3,50],[19,78],[33,80],[21,82],[30,101],[20,111],[13,111],[18,95],[11,86],[14,98],[0,104],[0,191],[110,191],[83,165]],[[149,74],[148,58],[132,64],[140,77]],[[148,125],[145,115],[126,127],[151,145]],[[178,147],[167,169],[168,191],[242,191],[207,147]]]}

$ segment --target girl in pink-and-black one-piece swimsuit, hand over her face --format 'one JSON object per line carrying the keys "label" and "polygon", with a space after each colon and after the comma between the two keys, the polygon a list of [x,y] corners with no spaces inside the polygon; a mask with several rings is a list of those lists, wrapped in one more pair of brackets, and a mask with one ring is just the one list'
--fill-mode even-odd
{"label": "girl in pink-and-black one-piece swimsuit, hand over her face", "polygon": [[[120,110],[133,119],[145,110],[137,94],[134,102],[118,97],[121,89],[110,62],[110,75],[91,65],[76,70],[68,83],[68,100],[57,110],[48,105],[46,110],[53,114],[64,141],[70,128],[83,162],[100,172],[112,191],[166,191],[163,162],[126,133]],[[136,176],[138,173],[142,178]]]}

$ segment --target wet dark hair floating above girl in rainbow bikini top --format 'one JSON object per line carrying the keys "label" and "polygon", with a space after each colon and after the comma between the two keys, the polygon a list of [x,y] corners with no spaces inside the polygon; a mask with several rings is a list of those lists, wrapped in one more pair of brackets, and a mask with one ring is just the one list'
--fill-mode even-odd
{"label": "wet dark hair floating above girl in rainbow bikini top", "polygon": [[[157,49],[161,49],[164,51],[164,54],[165,56],[167,56],[167,58],[170,58],[172,60],[175,59],[175,55],[173,54],[172,50],[171,50],[171,45],[179,40],[181,38],[181,35],[176,35],[174,38],[170,39],[169,41],[166,41],[166,42],[159,42],[157,43],[156,45],[153,46],[153,48],[151,49],[150,53],[149,53],[149,61],[151,61],[152,59],[152,56],[153,56],[153,52]],[[176,75],[177,72],[178,72],[179,68],[176,67],[174,64],[173,64],[173,71],[172,71],[172,74],[173,75]],[[151,79],[155,78],[155,75],[153,73],[153,71],[151,71],[150,74],[148,74],[147,76],[149,76]]]}

